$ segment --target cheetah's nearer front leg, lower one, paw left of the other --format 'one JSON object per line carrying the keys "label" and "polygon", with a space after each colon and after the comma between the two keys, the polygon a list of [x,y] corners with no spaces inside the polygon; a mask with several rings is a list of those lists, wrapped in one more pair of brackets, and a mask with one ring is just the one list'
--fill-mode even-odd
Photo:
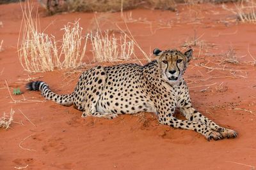
{"label": "cheetah's nearer front leg, lower one, paw left of the other", "polygon": [[[214,140],[222,139],[223,137],[219,132],[213,131],[210,127],[202,124],[201,122],[192,122],[189,120],[179,120],[172,116],[168,115],[159,115],[159,124],[170,125],[171,127],[180,128],[180,129],[190,129],[196,131],[205,136],[208,141],[211,141],[211,138]],[[162,118],[161,118],[162,117]]]}

